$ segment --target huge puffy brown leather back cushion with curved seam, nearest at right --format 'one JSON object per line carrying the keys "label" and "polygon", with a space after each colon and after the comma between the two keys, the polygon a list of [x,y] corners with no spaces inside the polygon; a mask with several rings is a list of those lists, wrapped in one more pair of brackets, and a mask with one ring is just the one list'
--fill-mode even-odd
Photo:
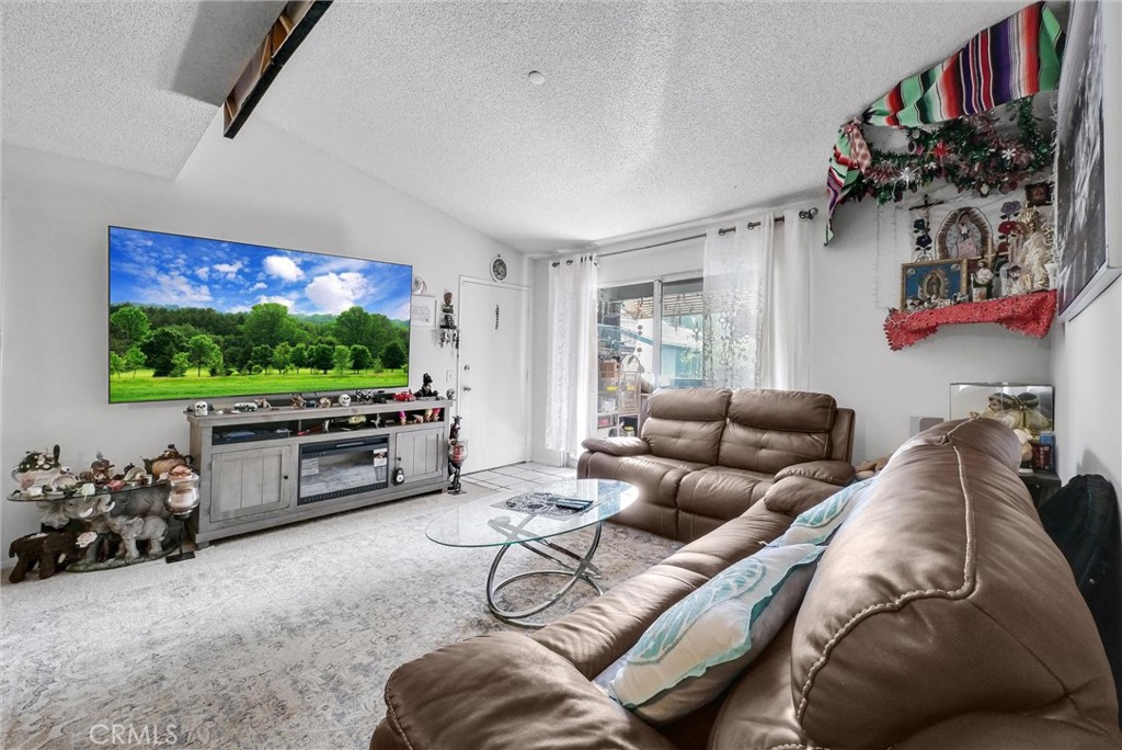
{"label": "huge puffy brown leather back cushion with curved seam, nearest at right", "polygon": [[1072,571],[996,458],[1015,436],[959,429],[898,451],[820,560],[791,657],[819,746],[890,747],[972,711],[1118,721]]}

